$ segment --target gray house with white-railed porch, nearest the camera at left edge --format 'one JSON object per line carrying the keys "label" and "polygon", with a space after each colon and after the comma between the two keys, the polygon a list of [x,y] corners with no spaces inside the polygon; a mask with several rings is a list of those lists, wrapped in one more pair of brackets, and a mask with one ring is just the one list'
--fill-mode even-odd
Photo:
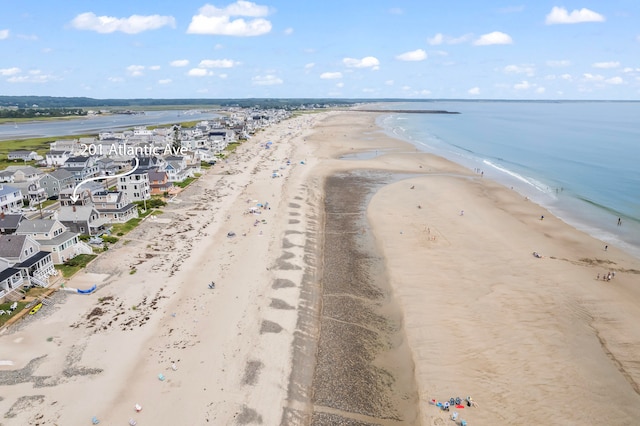
{"label": "gray house with white-railed porch, nearest the camera at left edge", "polygon": [[40,250],[30,235],[0,235],[0,258],[19,269],[25,284],[49,286],[49,277],[57,275],[51,253]]}

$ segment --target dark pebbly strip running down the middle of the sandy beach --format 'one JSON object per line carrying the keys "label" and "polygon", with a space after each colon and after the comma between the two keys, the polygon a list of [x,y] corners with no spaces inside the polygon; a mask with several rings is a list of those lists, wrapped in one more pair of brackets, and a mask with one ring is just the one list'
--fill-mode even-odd
{"label": "dark pebbly strip running down the middle of the sandy beach", "polygon": [[325,182],[312,425],[418,422],[414,365],[366,208],[392,176],[342,173]]}

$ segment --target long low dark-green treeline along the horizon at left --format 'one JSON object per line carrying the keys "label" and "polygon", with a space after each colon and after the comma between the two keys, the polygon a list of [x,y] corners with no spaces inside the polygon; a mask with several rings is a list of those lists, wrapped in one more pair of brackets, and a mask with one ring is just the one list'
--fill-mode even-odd
{"label": "long low dark-green treeline along the horizon at left", "polygon": [[356,99],[93,99],[84,97],[53,96],[0,96],[0,108],[111,108],[111,107],[155,107],[155,106],[220,106],[240,108],[299,109],[301,107],[323,108],[328,106],[349,106],[359,102]]}

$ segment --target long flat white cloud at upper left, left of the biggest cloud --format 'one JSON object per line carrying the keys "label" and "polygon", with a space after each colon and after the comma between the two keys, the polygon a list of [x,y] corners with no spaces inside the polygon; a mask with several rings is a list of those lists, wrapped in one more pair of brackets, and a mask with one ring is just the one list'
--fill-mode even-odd
{"label": "long flat white cloud at upper left, left of the biggest cloud", "polygon": [[131,15],[128,18],[113,16],[96,16],[93,12],[81,13],[73,18],[71,26],[77,30],[95,31],[101,34],[121,31],[127,34],[138,34],[143,31],[157,30],[164,26],[175,28],[173,16]]}

